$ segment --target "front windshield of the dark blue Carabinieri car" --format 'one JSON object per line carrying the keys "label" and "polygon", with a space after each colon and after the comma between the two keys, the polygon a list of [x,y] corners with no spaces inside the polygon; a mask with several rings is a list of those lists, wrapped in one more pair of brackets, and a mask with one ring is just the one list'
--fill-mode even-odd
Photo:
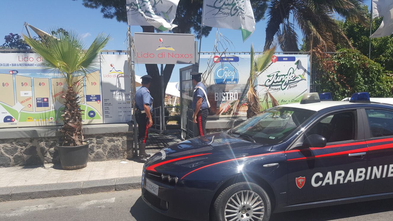
{"label": "front windshield of the dark blue Carabinieri car", "polygon": [[230,133],[260,144],[278,144],[315,113],[307,109],[273,107],[231,129]]}

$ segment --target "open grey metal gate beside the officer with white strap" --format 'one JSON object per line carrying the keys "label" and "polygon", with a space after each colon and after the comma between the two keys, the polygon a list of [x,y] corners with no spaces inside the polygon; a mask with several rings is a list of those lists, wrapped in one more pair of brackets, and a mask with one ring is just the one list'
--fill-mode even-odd
{"label": "open grey metal gate beside the officer with white strap", "polygon": [[184,140],[193,138],[196,131],[196,124],[193,123],[194,110],[191,108],[194,85],[190,73],[197,70],[198,66],[195,65],[180,68],[180,131]]}

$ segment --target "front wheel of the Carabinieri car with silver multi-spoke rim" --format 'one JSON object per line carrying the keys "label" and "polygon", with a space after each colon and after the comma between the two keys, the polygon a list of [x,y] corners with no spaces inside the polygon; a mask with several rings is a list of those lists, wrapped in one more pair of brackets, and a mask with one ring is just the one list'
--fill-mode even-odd
{"label": "front wheel of the Carabinieri car with silver multi-spoke rim", "polygon": [[[235,200],[237,204],[232,200]],[[262,203],[257,204],[257,202]],[[271,210],[269,196],[263,188],[252,182],[238,182],[228,186],[217,196],[211,210],[210,220],[267,221],[270,218]],[[257,216],[259,219],[253,216]],[[235,217],[238,219],[234,219]]]}

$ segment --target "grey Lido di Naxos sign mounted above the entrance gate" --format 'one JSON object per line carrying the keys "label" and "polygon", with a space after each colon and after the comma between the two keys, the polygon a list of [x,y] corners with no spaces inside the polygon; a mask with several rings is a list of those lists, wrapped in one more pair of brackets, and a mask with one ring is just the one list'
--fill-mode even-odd
{"label": "grey Lido di Naxos sign mounted above the entrance gate", "polygon": [[137,64],[195,64],[192,34],[134,33]]}

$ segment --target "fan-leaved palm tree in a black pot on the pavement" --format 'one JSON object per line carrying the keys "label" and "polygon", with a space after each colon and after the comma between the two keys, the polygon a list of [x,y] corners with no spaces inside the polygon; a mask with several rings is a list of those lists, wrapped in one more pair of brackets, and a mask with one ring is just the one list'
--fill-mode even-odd
{"label": "fan-leaved palm tree in a black pot on the pavement", "polygon": [[98,35],[86,49],[82,38],[75,32],[53,31],[40,41],[24,35],[24,41],[33,52],[39,54],[44,66],[66,79],[67,90],[63,95],[64,125],[62,141],[57,145],[63,169],[81,169],[87,166],[89,143],[84,142],[82,133],[82,111],[79,94],[75,90],[78,77],[93,72],[99,65],[99,53],[107,45],[109,36]]}

